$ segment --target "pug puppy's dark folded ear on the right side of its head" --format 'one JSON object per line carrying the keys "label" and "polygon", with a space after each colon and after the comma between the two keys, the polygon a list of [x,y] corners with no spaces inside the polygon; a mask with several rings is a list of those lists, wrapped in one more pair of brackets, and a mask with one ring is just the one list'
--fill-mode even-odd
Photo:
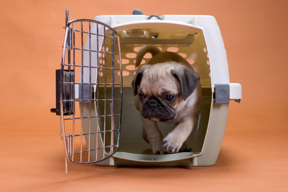
{"label": "pug puppy's dark folded ear on the right side of its head", "polygon": [[200,77],[196,72],[191,71],[186,67],[179,70],[172,69],[171,74],[179,80],[182,97],[186,100],[198,86]]}

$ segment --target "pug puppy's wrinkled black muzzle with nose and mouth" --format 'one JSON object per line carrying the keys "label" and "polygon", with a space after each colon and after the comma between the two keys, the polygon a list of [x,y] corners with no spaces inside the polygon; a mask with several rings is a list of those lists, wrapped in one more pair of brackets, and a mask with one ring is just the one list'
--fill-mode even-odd
{"label": "pug puppy's wrinkled black muzzle with nose and mouth", "polygon": [[151,98],[142,106],[142,116],[144,118],[158,119],[158,121],[168,121],[175,117],[175,112],[168,106],[164,106],[158,99]]}

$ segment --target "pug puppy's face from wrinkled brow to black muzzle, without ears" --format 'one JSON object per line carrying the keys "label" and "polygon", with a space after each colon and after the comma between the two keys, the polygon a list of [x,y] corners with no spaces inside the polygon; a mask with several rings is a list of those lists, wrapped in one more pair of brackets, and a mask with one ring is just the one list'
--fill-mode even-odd
{"label": "pug puppy's face from wrinkled brow to black muzzle, without ears", "polygon": [[[166,80],[157,80],[157,76]],[[175,118],[178,101],[183,100],[179,94],[179,82],[166,71],[156,72],[153,69],[147,70],[141,82],[137,95],[142,104],[142,116],[152,121],[168,121]]]}

